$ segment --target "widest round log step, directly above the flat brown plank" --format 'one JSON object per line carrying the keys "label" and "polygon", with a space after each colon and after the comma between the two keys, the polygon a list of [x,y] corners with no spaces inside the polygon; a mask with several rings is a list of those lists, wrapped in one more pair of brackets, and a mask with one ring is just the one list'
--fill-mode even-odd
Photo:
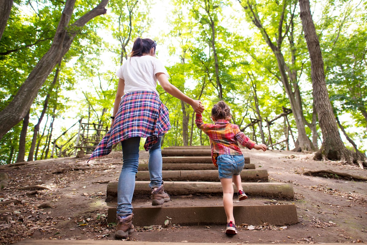
{"label": "widest round log step, directly above the flat brown plank", "polygon": [[[117,181],[109,182],[107,185],[107,200],[117,198]],[[134,194],[150,194],[149,181],[135,181]],[[233,184],[234,186],[234,184]],[[293,199],[294,191],[288,183],[242,183],[243,191],[252,196],[272,197],[282,199]],[[164,182],[164,190],[170,195],[190,195],[190,194],[221,194],[222,185],[220,182],[193,182],[175,181]]]}

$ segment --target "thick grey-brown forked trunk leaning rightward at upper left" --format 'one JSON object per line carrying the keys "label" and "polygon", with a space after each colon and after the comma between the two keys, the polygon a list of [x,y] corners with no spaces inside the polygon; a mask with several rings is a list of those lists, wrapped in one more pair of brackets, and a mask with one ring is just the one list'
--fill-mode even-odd
{"label": "thick grey-brown forked trunk leaning rightward at upper left", "polygon": [[[68,52],[77,34],[77,30],[94,17],[106,13],[105,6],[108,0],[101,0],[101,3],[97,7],[84,14],[72,25],[69,25],[75,1],[66,0],[65,8],[62,12],[50,49],[34,67],[9,105],[0,111],[0,139],[26,115],[40,87],[46,81],[52,69],[54,69],[66,52]],[[76,31],[70,32],[70,30]]]}

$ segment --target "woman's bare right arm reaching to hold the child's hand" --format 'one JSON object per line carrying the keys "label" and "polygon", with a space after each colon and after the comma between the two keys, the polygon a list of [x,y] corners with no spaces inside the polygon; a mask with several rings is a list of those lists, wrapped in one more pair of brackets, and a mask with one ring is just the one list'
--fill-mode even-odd
{"label": "woman's bare right arm reaching to hold the child's hand", "polygon": [[201,105],[200,100],[192,99],[189,96],[183,94],[178,88],[170,84],[170,82],[168,81],[166,77],[166,74],[159,72],[156,74],[156,76],[158,78],[159,84],[162,86],[164,91],[188,103],[197,114],[203,113],[204,106]]}

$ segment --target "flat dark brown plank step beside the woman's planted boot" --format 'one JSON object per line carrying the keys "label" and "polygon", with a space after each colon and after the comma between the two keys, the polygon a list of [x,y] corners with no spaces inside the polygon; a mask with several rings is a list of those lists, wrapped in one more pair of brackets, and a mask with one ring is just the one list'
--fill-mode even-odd
{"label": "flat dark brown plank step beside the woman's planted boot", "polygon": [[[167,217],[172,224],[213,225],[226,224],[223,206],[134,208],[134,226],[163,225]],[[234,206],[237,224],[283,226],[298,223],[294,204]],[[116,208],[108,209],[107,223],[116,222]]]}

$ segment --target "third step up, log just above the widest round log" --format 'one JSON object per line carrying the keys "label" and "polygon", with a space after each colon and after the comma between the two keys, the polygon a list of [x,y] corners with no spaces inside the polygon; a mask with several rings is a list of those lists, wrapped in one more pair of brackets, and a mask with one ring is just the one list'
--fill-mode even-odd
{"label": "third step up, log just above the widest round log", "polygon": [[[163,170],[162,176],[163,181],[220,182],[218,170]],[[268,182],[266,169],[245,169],[240,176],[242,182]],[[135,180],[150,180],[149,171],[138,171]]]}

